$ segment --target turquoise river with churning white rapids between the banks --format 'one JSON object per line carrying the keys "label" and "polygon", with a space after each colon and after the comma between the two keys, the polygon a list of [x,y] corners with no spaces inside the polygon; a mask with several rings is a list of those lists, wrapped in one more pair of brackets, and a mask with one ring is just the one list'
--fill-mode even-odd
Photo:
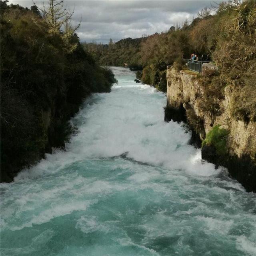
{"label": "turquoise river with churning white rapids between the banks", "polygon": [[1,255],[255,256],[256,195],[163,121],[163,93],[113,71],[66,152],[1,184]]}

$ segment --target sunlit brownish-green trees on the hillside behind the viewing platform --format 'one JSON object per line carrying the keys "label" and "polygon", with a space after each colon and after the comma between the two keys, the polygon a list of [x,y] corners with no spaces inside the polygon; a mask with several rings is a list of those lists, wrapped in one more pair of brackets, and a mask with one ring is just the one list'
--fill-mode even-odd
{"label": "sunlit brownish-green trees on the hillside behind the viewing platform", "polygon": [[[108,45],[85,44],[101,65],[128,64],[141,69],[137,78],[166,91],[166,66],[181,69],[192,53],[214,60],[222,81],[253,74],[255,70],[255,1],[230,0],[204,8],[191,24],[144,38],[126,38]],[[214,15],[211,15],[214,11]],[[161,17],[159,17],[161,18]],[[242,81],[240,79],[239,81]]]}

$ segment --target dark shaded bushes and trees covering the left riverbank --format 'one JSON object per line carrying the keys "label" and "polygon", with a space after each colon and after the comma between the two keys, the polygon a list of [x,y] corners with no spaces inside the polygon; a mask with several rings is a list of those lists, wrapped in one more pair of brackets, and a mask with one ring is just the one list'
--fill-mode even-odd
{"label": "dark shaded bushes and trees covering the left riverbank", "polygon": [[[62,2],[55,1],[59,13]],[[45,17],[37,6],[29,10],[1,0],[2,181],[52,147],[64,147],[73,130],[67,121],[83,99],[110,92],[116,82],[83,49],[70,17],[64,30],[58,19],[50,24]]]}

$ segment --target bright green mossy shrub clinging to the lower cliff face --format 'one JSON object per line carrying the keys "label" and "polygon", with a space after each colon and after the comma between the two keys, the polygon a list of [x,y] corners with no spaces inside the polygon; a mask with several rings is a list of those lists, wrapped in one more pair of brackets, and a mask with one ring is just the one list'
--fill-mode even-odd
{"label": "bright green mossy shrub clinging to the lower cliff face", "polygon": [[224,155],[227,152],[226,143],[228,133],[228,130],[220,128],[220,125],[214,126],[212,130],[206,134],[206,138],[202,142],[202,147],[204,145],[214,146],[218,155]]}

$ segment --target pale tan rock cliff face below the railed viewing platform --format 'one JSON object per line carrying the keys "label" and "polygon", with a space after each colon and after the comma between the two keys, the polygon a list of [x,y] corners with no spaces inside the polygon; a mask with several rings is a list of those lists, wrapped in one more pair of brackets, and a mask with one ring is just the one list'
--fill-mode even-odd
{"label": "pale tan rock cliff face below the railed viewing platform", "polygon": [[192,140],[200,146],[207,134],[218,126],[227,131],[226,152],[217,154],[214,146],[204,145],[202,158],[228,168],[247,191],[256,192],[256,122],[232,116],[232,86],[222,92],[206,90],[196,73],[167,69],[166,121],[188,122]]}

